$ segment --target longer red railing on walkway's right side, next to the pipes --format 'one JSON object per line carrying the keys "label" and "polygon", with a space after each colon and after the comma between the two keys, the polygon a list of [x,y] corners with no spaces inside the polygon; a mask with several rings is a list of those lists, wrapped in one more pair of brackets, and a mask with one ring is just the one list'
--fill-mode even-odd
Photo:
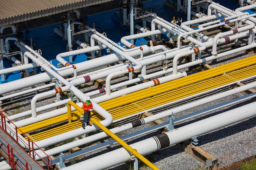
{"label": "longer red railing on walkway's right side, next to the pipes", "polygon": [[[2,112],[0,112],[0,115],[1,115],[1,127],[0,128],[2,128],[2,130],[4,130],[4,132],[5,133],[7,133],[7,127],[8,127],[8,130],[10,130],[11,132],[13,132],[13,134],[15,134],[16,135],[16,143],[18,144],[18,139],[20,139],[21,141],[24,141],[24,140],[22,140],[22,138],[21,137],[19,137],[18,136],[18,130],[20,130],[15,124],[13,124]],[[6,124],[6,120],[7,121],[9,121],[10,122],[10,124],[13,124],[13,126],[15,127],[15,132],[12,130],[13,128],[12,127],[9,127],[8,126],[8,124]],[[20,130],[20,132],[22,132],[21,130]],[[8,133],[7,133],[7,135],[9,135]],[[27,143],[25,143],[25,142],[23,142],[23,144],[25,145],[25,146],[27,146],[27,148],[28,148],[28,155],[29,155],[29,157],[31,157],[32,159],[34,159],[35,160],[35,157],[34,157],[34,155],[36,154],[44,163],[45,163],[45,165],[47,165],[47,170],[50,170],[50,169],[52,169],[53,168],[53,166],[52,166],[52,158],[51,157],[49,157],[41,148],[39,148],[35,143],[34,143],[34,141],[32,141],[27,135],[25,135],[23,132],[22,132],[22,135],[23,136],[25,136],[25,137],[27,137],[27,139],[29,139],[28,141],[27,141]],[[30,144],[31,143],[31,144]],[[18,144],[19,145],[19,144]],[[40,157],[40,155],[38,155],[37,153],[36,153],[36,151],[34,150],[34,146],[36,146],[37,148],[38,148],[38,150],[41,150],[42,151],[42,153],[44,153],[45,154],[45,157],[47,157],[47,161],[45,161],[45,159],[43,159],[42,157]],[[24,152],[26,152],[25,150],[24,150]],[[32,156],[31,156],[32,155]],[[35,160],[35,162],[36,163],[38,163],[36,160]],[[38,163],[38,165],[39,166],[41,166],[39,163]],[[42,166],[41,166],[42,167]],[[43,167],[42,167],[43,168]]]}

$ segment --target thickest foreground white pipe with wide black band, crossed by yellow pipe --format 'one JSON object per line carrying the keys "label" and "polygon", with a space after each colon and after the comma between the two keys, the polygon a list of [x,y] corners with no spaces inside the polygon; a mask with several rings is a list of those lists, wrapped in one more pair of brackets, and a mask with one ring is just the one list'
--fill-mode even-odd
{"label": "thickest foreground white pipe with wide black band, crossed by yellow pipe", "polygon": [[[150,137],[135,144],[131,144],[130,146],[135,148],[141,155],[147,155],[151,152],[172,146],[181,141],[191,139],[194,136],[202,135],[206,132],[255,116],[256,110],[254,109],[254,105],[255,103],[247,104],[189,125],[182,126],[178,129],[168,131],[164,134]],[[125,148],[119,148],[97,157],[76,163],[72,166],[68,166],[63,168],[63,170],[82,170],[85,166],[88,170],[103,170],[119,163],[129,161],[130,159],[131,156],[129,152]],[[95,162],[99,161],[101,163],[95,164]]]}

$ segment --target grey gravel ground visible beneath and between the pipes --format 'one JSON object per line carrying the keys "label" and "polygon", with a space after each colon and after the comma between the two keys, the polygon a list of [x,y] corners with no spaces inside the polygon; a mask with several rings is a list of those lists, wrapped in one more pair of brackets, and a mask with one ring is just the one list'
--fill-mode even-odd
{"label": "grey gravel ground visible beneath and between the pipes", "polygon": [[[244,40],[241,40],[241,41],[244,42]],[[229,50],[229,48],[231,47],[231,44],[223,44],[222,46],[224,46],[225,49]],[[211,52],[211,49],[207,49],[206,51],[204,51],[203,57],[210,55],[210,52]],[[255,55],[255,54],[252,54],[252,55]],[[223,57],[222,59],[218,59],[217,61],[207,62],[207,64],[209,64],[213,67],[216,67],[216,66],[219,66],[220,64],[226,64],[226,63],[229,63],[229,62],[240,60],[240,59],[248,57],[248,56],[250,56],[250,55],[247,55],[247,54],[243,53],[243,51],[241,51],[241,52],[236,53],[234,55],[229,55],[229,56]],[[170,64],[171,64],[171,62],[170,62]],[[161,67],[160,65],[161,65],[161,63],[159,62],[157,64],[152,64],[152,65],[148,66],[148,67],[150,67],[150,69],[148,69],[148,73],[159,70],[159,68]],[[192,74],[187,69],[181,70],[181,72],[182,71],[186,71],[188,75]],[[113,80],[112,83],[117,83],[117,82],[124,81],[124,80],[127,80],[127,79],[128,79],[128,77],[126,77],[126,76],[120,76],[118,78],[115,78],[115,80]],[[255,80],[252,79],[250,81],[255,81]],[[247,84],[250,81],[243,82],[243,83]],[[42,84],[40,84],[40,85],[42,85]],[[40,85],[36,85],[36,86],[40,86]],[[28,87],[26,89],[29,89],[29,88],[31,88],[31,87]],[[42,91],[39,91],[39,92],[47,91],[49,89],[51,89],[51,88],[43,89]],[[87,83],[87,86],[81,86],[80,89],[81,89],[81,91],[85,92],[85,91],[93,91],[96,88],[93,85],[91,85],[90,83]],[[157,113],[162,112],[164,110],[168,110],[170,108],[180,106],[180,105],[185,104],[187,102],[191,102],[195,99],[204,98],[206,96],[213,95],[213,94],[216,94],[216,93],[220,93],[222,91],[227,91],[229,89],[230,88],[223,88],[223,89],[220,89],[218,91],[213,91],[211,93],[201,95],[201,96],[195,97],[193,99],[188,99],[186,101],[182,101],[182,102],[179,102],[179,103],[176,103],[176,104],[172,104],[170,106],[166,106],[166,107],[163,107],[163,108],[160,108],[160,109],[157,109],[157,110],[153,110],[152,113],[157,114]],[[22,90],[25,90],[25,89],[22,89]],[[119,89],[117,89],[117,90],[119,90]],[[17,92],[19,92],[19,91],[13,91],[12,93],[17,93]],[[10,93],[8,93],[8,94],[10,94]],[[8,95],[8,94],[5,94],[5,95]],[[34,95],[34,93],[31,93],[30,95]],[[70,97],[69,95],[71,95],[71,94],[67,93],[65,95],[62,95],[61,99],[65,99],[67,97]],[[180,117],[182,115],[187,115],[188,113],[193,113],[197,110],[201,110],[203,108],[207,108],[209,106],[213,106],[213,105],[222,103],[223,101],[231,100],[231,99],[234,99],[234,98],[237,98],[237,97],[240,97],[240,96],[243,96],[243,95],[242,94],[236,94],[236,95],[232,95],[232,96],[229,96],[229,97],[225,97],[224,99],[220,99],[220,100],[217,100],[215,102],[205,104],[204,106],[192,108],[190,110],[186,110],[184,112],[178,113],[177,115],[175,115],[175,117]],[[21,98],[24,98],[24,97],[25,97],[25,99],[21,99]],[[96,97],[96,96],[94,96],[94,97]],[[20,113],[20,112],[25,111],[25,110],[30,110],[30,101],[31,101],[32,97],[29,97],[27,95],[23,95],[19,98],[21,100],[19,100],[17,102],[5,104],[5,105],[2,106],[9,115]],[[54,96],[40,99],[37,102],[37,106],[45,106],[46,104],[51,104],[51,103],[54,102],[54,100],[55,100]],[[214,112],[211,112],[211,113],[208,113],[208,114],[205,114],[205,115],[201,115],[201,116],[196,117],[194,119],[189,119],[187,121],[180,122],[179,124],[175,124],[175,128],[190,124],[194,121],[198,121],[200,119],[204,119],[204,118],[212,116],[212,115],[216,115],[218,113],[222,113],[226,110],[229,110],[229,109],[232,109],[232,108],[235,108],[235,107],[239,107],[239,106],[242,106],[242,105],[250,103],[250,102],[253,102],[253,101],[248,100],[248,101],[236,104],[234,106],[225,107],[225,108],[216,110]],[[45,112],[48,112],[48,111],[49,110],[45,110],[42,113],[45,113]],[[137,118],[132,117],[132,118],[126,120],[126,121],[117,122],[117,125],[125,124],[125,123],[131,122],[135,119],[137,119]],[[163,118],[162,121],[168,121],[168,117]],[[236,124],[232,124],[232,125],[229,125],[227,127],[224,127],[224,128],[218,129],[218,130],[214,130],[213,132],[209,132],[209,133],[200,135],[200,136],[198,136],[199,146],[202,147],[207,152],[209,152],[214,157],[216,157],[218,159],[219,166],[226,166],[229,163],[234,163],[234,162],[239,161],[241,159],[250,157],[252,155],[256,155],[256,133],[255,133],[256,126],[255,126],[255,122],[256,122],[256,117],[252,117],[250,119],[240,121]],[[118,135],[119,136],[124,136],[124,135],[127,135],[129,133],[132,133],[132,132],[144,129],[144,128],[148,128],[148,127],[149,127],[149,125],[146,124],[144,126],[139,126],[139,127],[134,128],[132,130],[121,132]],[[95,133],[95,132],[93,132],[93,133]],[[92,135],[93,133],[91,133],[89,135]],[[151,132],[151,133],[148,133],[148,134],[146,134],[142,137],[137,137],[135,139],[130,139],[130,140],[127,141],[127,143],[132,144],[134,142],[146,139],[148,137],[155,136],[157,134],[158,134],[158,132]],[[102,143],[104,141],[108,141],[108,140],[110,140],[110,138],[101,139],[99,141],[93,142],[90,146],[94,146],[94,145],[100,144],[100,143]],[[87,148],[87,147],[88,146],[81,146],[81,148]],[[97,152],[93,152],[93,153],[90,153],[90,154],[86,155],[86,157],[81,157],[81,158],[77,159],[76,162],[83,161],[83,160],[89,159],[91,157],[95,157],[99,154],[102,154],[104,152],[108,152],[110,150],[113,150],[113,149],[116,149],[116,148],[119,148],[119,147],[120,146],[118,144],[116,144],[114,146],[111,146],[111,147],[108,147],[108,148],[105,148],[105,149],[101,149]],[[65,152],[65,154],[68,154],[68,153],[69,153],[68,151]],[[58,157],[58,155],[54,155],[54,156]],[[150,155],[147,155],[146,158],[149,159],[150,161],[152,161],[155,164],[155,166],[157,166],[161,170],[194,170],[194,169],[198,169],[198,168],[201,169],[201,168],[205,167],[204,164],[202,164],[200,161],[193,158],[192,156],[187,155],[186,153],[184,153],[183,150],[180,147],[176,146],[176,145],[168,147],[168,148],[164,148],[164,149],[159,150],[157,152],[154,152]],[[72,164],[71,162],[68,162],[68,161],[66,161],[65,163],[66,163],[66,166]],[[108,168],[108,170],[128,169],[128,167],[131,164],[132,164],[131,162],[130,163],[123,163],[121,165],[117,165],[117,166]],[[147,166],[141,166],[141,168],[140,168],[140,170],[149,170],[149,169],[151,169],[151,168],[148,168]]]}

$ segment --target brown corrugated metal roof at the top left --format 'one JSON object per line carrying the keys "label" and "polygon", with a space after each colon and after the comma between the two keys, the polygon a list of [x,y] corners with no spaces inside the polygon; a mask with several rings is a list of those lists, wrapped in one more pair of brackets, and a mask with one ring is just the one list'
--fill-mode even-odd
{"label": "brown corrugated metal roof at the top left", "polygon": [[0,26],[110,1],[113,0],[0,0]]}

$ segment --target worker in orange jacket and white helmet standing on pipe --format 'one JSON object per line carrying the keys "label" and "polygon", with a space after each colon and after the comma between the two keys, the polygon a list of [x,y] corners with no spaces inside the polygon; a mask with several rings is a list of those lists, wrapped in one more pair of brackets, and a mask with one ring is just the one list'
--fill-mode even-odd
{"label": "worker in orange jacket and white helmet standing on pipe", "polygon": [[82,128],[85,129],[85,126],[89,125],[92,126],[90,124],[90,119],[91,119],[91,111],[93,110],[93,106],[92,106],[92,102],[90,101],[90,96],[87,97],[86,101],[83,103],[83,124],[82,124]]}

